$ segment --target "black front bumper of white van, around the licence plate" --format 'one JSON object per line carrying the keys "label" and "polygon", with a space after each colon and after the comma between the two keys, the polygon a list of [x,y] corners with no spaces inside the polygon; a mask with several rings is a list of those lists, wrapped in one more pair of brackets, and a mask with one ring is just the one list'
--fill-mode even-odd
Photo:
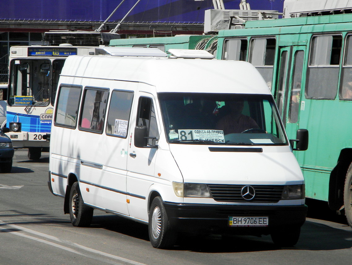
{"label": "black front bumper of white van, around the licence plate", "polygon": [[[307,205],[242,206],[217,204],[176,204],[164,202],[172,230],[195,233],[230,233],[261,235],[283,227],[301,227],[306,220]],[[268,216],[266,227],[230,227],[229,216]]]}

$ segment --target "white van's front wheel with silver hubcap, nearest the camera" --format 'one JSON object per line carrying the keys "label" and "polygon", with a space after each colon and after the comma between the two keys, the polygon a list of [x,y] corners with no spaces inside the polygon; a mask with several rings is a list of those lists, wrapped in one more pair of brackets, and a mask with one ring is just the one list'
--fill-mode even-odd
{"label": "white van's front wheel with silver hubcap, nearest the camera", "polygon": [[170,231],[169,219],[161,197],[155,197],[149,211],[149,240],[153,247],[166,249],[174,246],[177,234]]}

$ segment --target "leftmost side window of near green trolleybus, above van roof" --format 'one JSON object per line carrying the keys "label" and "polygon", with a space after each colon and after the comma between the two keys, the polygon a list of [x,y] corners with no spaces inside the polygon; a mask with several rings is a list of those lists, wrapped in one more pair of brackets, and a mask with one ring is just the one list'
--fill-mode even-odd
{"label": "leftmost side window of near green trolleybus, above van roof", "polygon": [[245,61],[247,56],[247,42],[247,39],[225,40],[222,60]]}

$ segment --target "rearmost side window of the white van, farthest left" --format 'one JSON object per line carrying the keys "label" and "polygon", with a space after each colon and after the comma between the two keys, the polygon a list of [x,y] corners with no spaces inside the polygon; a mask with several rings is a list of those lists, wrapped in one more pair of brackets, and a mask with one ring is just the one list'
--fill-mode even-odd
{"label": "rearmost side window of the white van, farthest left", "polygon": [[76,86],[62,86],[59,88],[54,120],[55,125],[76,127],[81,91],[82,88]]}

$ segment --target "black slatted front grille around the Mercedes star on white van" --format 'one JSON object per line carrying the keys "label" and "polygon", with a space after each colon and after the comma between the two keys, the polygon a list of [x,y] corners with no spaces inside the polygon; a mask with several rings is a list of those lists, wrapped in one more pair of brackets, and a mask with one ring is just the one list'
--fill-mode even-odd
{"label": "black slatted front grille around the Mercedes star on white van", "polygon": [[251,185],[256,191],[252,200],[245,200],[241,190],[246,185],[209,184],[210,193],[216,201],[230,203],[277,203],[281,199],[283,185]]}

